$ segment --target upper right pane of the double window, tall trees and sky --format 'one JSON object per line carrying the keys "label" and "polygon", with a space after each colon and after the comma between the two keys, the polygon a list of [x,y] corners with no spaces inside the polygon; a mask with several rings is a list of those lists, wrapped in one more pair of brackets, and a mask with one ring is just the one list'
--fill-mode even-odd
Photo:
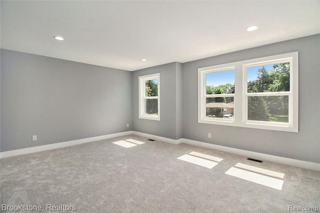
{"label": "upper right pane of the double window, tall trees and sky", "polygon": [[289,69],[289,62],[247,68],[248,92],[290,91]]}

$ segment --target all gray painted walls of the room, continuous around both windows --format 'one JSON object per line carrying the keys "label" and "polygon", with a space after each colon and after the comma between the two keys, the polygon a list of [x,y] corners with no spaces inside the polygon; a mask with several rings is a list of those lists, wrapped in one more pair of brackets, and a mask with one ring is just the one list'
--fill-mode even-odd
{"label": "all gray painted walls of the room, continuous around both windows", "polygon": [[[298,133],[197,122],[199,67],[293,51],[299,52]],[[320,163],[319,55],[320,34],[132,73],[1,50],[1,151],[134,130]],[[158,72],[161,120],[139,119],[138,76]]]}

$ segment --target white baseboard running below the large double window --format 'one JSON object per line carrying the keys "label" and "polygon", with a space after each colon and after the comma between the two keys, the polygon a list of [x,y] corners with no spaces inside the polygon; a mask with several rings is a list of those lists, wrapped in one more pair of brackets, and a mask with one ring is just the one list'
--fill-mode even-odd
{"label": "white baseboard running below the large double window", "polygon": [[290,159],[290,158],[283,158],[283,157],[279,157],[279,156],[267,155],[267,154],[258,153],[258,152],[251,152],[251,151],[247,151],[247,150],[241,150],[241,149],[224,147],[224,146],[219,146],[219,145],[214,145],[214,144],[208,144],[208,143],[193,141],[193,140],[189,140],[189,139],[182,139],[182,143],[193,145],[193,146],[198,146],[198,147],[203,147],[203,148],[207,148],[207,149],[213,149],[213,150],[217,150],[217,151],[221,151],[221,152],[231,153],[231,154],[235,154],[235,155],[245,156],[248,158],[258,159],[258,160],[262,160],[262,161],[269,161],[269,162],[284,164],[284,165],[293,166],[293,167],[299,167],[299,168],[304,168],[304,169],[320,171],[320,164],[313,163],[313,162],[300,161],[300,160],[295,160],[295,159]]}

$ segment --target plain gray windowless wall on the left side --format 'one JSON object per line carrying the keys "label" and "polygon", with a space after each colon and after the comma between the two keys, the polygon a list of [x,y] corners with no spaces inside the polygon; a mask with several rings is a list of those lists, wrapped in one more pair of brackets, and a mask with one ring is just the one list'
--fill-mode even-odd
{"label": "plain gray windowless wall on the left side", "polygon": [[131,72],[0,54],[1,152],[131,130]]}

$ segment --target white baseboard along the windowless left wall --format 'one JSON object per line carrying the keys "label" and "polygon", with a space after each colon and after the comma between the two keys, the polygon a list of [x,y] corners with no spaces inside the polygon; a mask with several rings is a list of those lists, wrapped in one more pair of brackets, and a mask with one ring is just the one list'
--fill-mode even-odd
{"label": "white baseboard along the windowless left wall", "polygon": [[11,156],[16,156],[16,155],[24,155],[24,154],[34,153],[34,152],[42,152],[42,151],[51,150],[51,149],[58,149],[58,148],[62,148],[62,147],[68,147],[68,146],[73,146],[73,145],[78,145],[78,144],[83,144],[83,143],[88,143],[88,142],[93,142],[93,141],[100,141],[100,140],[120,137],[120,136],[124,136],[124,135],[131,135],[131,134],[132,134],[132,131],[127,131],[127,132],[120,132],[120,133],[114,133],[114,134],[109,134],[109,135],[101,135],[101,136],[84,138],[84,139],[73,140],[73,141],[60,142],[60,143],[55,143],[55,144],[48,144],[48,145],[43,145],[43,146],[36,146],[36,147],[29,147],[29,148],[24,148],[24,149],[0,152],[0,159],[11,157]]}

